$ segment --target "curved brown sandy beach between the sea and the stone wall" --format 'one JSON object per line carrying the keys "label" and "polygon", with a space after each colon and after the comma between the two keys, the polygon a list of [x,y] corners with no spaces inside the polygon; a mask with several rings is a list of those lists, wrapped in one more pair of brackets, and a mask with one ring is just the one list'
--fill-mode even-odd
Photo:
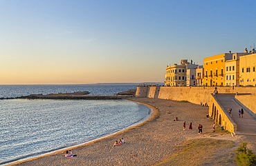
{"label": "curved brown sandy beach between the sea and the stone wall", "polygon": [[[190,139],[214,138],[238,142],[231,134],[212,133],[213,120],[206,118],[208,107],[156,98],[131,98],[131,101],[152,107],[154,109],[152,117],[143,124],[113,136],[72,148],[76,157],[66,158],[62,151],[35,160],[26,160],[18,165],[156,165],[178,152],[179,146]],[[178,117],[179,121],[174,121],[175,117]],[[184,121],[185,130],[183,130]],[[190,122],[193,129],[188,129]],[[199,124],[203,124],[203,134],[198,134]],[[125,144],[113,147],[113,143],[120,138],[125,139]],[[219,149],[221,154],[209,157],[213,162],[212,165],[214,162],[220,162],[219,157],[223,154],[227,154],[232,163],[234,151],[235,146]],[[208,158],[208,154],[203,158]],[[194,163],[194,165],[200,164]]]}

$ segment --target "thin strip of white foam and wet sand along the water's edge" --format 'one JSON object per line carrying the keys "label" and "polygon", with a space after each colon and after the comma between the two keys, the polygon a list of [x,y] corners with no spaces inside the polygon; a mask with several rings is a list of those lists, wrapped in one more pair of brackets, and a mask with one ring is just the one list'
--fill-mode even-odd
{"label": "thin strip of white foam and wet sand along the water's edge", "polygon": [[150,113],[147,116],[145,116],[145,118],[141,119],[140,121],[138,121],[138,122],[136,122],[132,125],[129,125],[128,127],[125,127],[124,129],[122,129],[118,132],[114,132],[112,134],[106,134],[106,135],[101,136],[100,138],[95,138],[91,141],[87,141],[85,143],[80,143],[78,145],[72,145],[71,147],[64,147],[64,148],[60,148],[60,149],[55,149],[51,152],[46,152],[44,154],[39,154],[38,156],[32,156],[32,157],[28,157],[28,158],[24,158],[24,159],[21,158],[21,159],[17,159],[17,160],[14,160],[14,161],[10,161],[9,163],[3,163],[3,166],[19,165],[21,163],[26,163],[30,160],[37,160],[38,158],[44,158],[46,156],[52,156],[52,155],[55,155],[55,154],[64,154],[64,152],[66,152],[66,150],[75,149],[77,147],[84,147],[86,145],[91,145],[93,143],[97,143],[98,141],[102,141],[105,138],[113,137],[113,136],[116,136],[118,134],[122,134],[123,132],[127,132],[129,129],[134,129],[136,127],[139,127],[140,125],[143,125],[144,123],[147,123],[147,121],[152,121],[154,118],[156,118],[156,116],[158,114],[157,109],[155,107],[153,107],[152,105],[148,105],[148,104],[145,104],[145,103],[142,103],[142,102],[132,101],[132,100],[127,99],[127,98],[124,98],[124,100],[146,105],[147,107],[149,107]]}

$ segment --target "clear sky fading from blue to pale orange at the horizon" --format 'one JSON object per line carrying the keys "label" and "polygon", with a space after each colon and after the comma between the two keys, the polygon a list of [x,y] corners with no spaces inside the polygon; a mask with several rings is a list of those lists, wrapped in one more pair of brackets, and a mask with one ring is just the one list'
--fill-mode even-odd
{"label": "clear sky fading from blue to pale orange at the horizon", "polygon": [[164,82],[256,43],[256,1],[0,0],[0,84]]}

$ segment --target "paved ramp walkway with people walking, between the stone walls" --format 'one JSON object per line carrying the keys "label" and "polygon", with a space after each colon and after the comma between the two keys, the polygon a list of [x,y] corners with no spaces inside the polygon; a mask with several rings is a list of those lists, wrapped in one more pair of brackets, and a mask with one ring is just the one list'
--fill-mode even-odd
{"label": "paved ramp walkway with people walking, between the stone walls", "polygon": [[249,143],[248,147],[256,152],[256,120],[250,116],[246,109],[244,109],[244,117],[239,118],[238,110],[241,106],[235,101],[235,96],[217,95],[217,100],[228,114],[228,108],[232,108],[231,118],[237,123],[237,132],[235,134],[241,138],[242,141]]}

